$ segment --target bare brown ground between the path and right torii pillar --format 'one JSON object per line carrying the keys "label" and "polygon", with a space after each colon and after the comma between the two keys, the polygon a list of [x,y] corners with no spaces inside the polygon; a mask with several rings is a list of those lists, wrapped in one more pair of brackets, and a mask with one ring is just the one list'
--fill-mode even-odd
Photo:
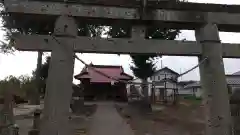
{"label": "bare brown ground between the path and right torii pillar", "polygon": [[143,114],[133,105],[116,105],[116,108],[135,135],[203,135],[203,107],[199,103],[181,100],[176,106],[154,106],[164,109]]}

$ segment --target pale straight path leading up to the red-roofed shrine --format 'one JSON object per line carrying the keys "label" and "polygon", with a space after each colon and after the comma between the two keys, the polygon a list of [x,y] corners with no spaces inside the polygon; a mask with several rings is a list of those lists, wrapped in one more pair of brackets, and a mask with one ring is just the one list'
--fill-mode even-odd
{"label": "pale straight path leading up to the red-roofed shrine", "polygon": [[118,114],[113,102],[97,103],[89,135],[134,135],[130,126]]}

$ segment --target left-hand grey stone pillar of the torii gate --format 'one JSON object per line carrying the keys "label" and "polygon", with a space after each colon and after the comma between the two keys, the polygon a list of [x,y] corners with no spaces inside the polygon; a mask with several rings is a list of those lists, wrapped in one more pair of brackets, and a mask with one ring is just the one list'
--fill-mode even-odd
{"label": "left-hand grey stone pillar of the torii gate", "polygon": [[[77,36],[75,20],[71,17],[60,16],[56,20],[54,35],[75,38]],[[46,39],[45,42],[47,43],[48,40]],[[56,39],[56,43],[51,47],[51,62],[40,135],[70,135],[68,118],[72,96],[74,44],[73,40]]]}

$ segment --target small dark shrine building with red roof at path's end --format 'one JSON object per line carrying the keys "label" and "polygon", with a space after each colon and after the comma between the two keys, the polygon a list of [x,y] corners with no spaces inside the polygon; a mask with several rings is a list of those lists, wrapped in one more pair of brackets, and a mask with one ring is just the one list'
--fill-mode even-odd
{"label": "small dark shrine building with red roof at path's end", "polygon": [[126,74],[122,66],[93,64],[89,66],[91,67],[85,66],[79,74],[74,76],[75,79],[80,80],[85,100],[127,101],[125,81],[132,80],[133,77]]}

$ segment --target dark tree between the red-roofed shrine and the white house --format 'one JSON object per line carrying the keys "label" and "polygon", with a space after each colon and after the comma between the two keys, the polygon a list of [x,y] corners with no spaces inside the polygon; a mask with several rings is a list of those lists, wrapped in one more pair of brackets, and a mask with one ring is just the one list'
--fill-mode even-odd
{"label": "dark tree between the red-roofed shrine and the white house", "polygon": [[[130,25],[117,24],[110,28],[107,33],[110,37],[114,38],[123,38],[130,37],[131,28]],[[176,29],[167,29],[167,28],[156,28],[154,26],[149,26],[146,29],[146,38],[147,39],[165,39],[165,40],[174,40],[176,36],[180,33]],[[146,45],[147,46],[147,45]],[[133,65],[130,67],[134,75],[140,78],[143,82],[143,94],[144,94],[144,110],[150,110],[151,105],[148,99],[148,88],[146,87],[147,78],[152,76],[155,72],[154,60],[157,57],[160,57],[157,54],[142,54],[142,55],[130,55],[132,58]],[[149,109],[147,109],[149,108]]]}

